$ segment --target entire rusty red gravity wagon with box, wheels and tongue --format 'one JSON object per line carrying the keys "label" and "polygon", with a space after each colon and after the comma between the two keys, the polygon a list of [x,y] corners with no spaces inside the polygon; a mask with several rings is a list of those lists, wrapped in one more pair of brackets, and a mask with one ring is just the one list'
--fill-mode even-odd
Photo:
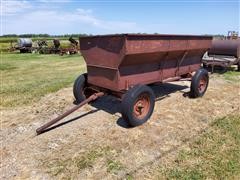
{"label": "entire rusty red gravity wagon with box, wheels and tongue", "polygon": [[154,109],[155,95],[149,84],[190,79],[191,96],[201,97],[209,81],[208,72],[201,68],[202,56],[211,42],[210,36],[193,35],[81,37],[80,51],[87,73],[80,75],[73,86],[78,107],[111,94],[122,101],[122,117],[131,126],[138,126],[150,118]]}

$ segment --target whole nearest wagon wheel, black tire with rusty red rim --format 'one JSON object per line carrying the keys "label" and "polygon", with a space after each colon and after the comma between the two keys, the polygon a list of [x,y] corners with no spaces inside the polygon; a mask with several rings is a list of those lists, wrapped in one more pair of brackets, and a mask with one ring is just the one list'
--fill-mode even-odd
{"label": "whole nearest wagon wheel, black tire with rusty red rim", "polygon": [[152,115],[155,95],[145,85],[136,85],[129,89],[122,100],[122,117],[135,127],[145,123]]}

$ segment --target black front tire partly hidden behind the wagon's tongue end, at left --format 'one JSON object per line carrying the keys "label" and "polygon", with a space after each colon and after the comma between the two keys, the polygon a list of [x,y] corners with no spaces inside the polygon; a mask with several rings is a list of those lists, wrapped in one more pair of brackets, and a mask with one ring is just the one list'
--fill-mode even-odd
{"label": "black front tire partly hidden behind the wagon's tongue end, at left", "polygon": [[73,95],[77,103],[81,103],[86,99],[86,96],[84,94],[84,88],[86,87],[86,85],[87,85],[87,73],[84,73],[78,76],[73,85]]}

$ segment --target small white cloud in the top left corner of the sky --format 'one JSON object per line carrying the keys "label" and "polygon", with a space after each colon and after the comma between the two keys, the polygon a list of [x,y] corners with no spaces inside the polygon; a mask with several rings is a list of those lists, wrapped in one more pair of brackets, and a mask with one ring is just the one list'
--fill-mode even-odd
{"label": "small white cloud in the top left corner of the sky", "polygon": [[14,1],[14,0],[2,0],[1,8],[2,8],[2,16],[11,16],[16,15],[17,13],[24,12],[26,9],[30,9],[32,7],[29,1]]}

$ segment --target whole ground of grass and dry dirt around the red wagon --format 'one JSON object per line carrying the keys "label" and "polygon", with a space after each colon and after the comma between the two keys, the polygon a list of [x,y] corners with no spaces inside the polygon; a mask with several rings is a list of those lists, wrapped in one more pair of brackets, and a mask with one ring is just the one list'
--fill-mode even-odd
{"label": "whole ground of grass and dry dirt around the red wagon", "polygon": [[1,179],[239,179],[240,73],[213,74],[203,98],[189,82],[153,85],[148,123],[129,128],[113,97],[52,130],[35,129],[73,106],[80,55],[1,54]]}

